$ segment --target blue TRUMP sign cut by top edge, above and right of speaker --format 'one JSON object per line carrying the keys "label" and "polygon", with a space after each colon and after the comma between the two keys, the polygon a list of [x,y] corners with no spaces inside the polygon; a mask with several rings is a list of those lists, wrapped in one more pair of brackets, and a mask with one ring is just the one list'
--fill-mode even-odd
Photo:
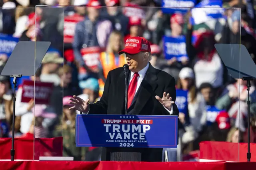
{"label": "blue TRUMP sign cut by top edge, above and right of speaker", "polygon": [[193,7],[196,0],[162,0],[162,12],[165,14],[174,14],[176,12],[186,13]]}

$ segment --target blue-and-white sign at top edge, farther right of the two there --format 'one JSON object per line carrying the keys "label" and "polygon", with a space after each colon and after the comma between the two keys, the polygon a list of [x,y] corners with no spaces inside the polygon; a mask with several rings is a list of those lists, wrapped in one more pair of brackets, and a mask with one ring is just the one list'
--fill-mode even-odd
{"label": "blue-and-white sign at top edge, farther right of the two there", "polygon": [[190,18],[190,22],[192,25],[196,25],[210,19],[221,18],[223,12],[221,0],[204,0],[191,10],[192,18]]}

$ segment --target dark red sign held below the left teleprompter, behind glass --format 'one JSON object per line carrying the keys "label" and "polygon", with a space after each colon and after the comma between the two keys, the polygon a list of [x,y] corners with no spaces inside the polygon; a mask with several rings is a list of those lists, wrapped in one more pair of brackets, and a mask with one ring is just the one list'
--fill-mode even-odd
{"label": "dark red sign held below the left teleprompter, behind glass", "polygon": [[22,84],[21,102],[28,103],[31,99],[34,99],[35,95],[36,104],[48,105],[52,89],[53,83],[36,81],[36,86],[34,87],[34,81],[24,80]]}

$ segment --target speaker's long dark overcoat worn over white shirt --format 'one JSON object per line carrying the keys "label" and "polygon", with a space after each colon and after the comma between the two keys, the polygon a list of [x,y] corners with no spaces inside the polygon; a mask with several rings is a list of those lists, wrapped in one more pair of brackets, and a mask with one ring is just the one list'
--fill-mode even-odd
{"label": "speaker's long dark overcoat worn over white shirt", "polygon": [[[174,78],[164,71],[155,69],[150,63],[142,83],[136,93],[136,99],[128,109],[128,114],[133,115],[170,115],[164,106],[156,100],[155,96],[169,93],[172,100],[176,99]],[[104,93],[97,103],[90,104],[88,114],[125,114],[125,79],[123,68],[119,67],[108,73],[104,86]],[[173,114],[178,115],[177,106],[173,106]],[[164,128],[164,127],[163,127]],[[102,152],[141,152],[142,161],[161,162],[162,148],[103,148]],[[103,155],[102,155],[103,156]]]}

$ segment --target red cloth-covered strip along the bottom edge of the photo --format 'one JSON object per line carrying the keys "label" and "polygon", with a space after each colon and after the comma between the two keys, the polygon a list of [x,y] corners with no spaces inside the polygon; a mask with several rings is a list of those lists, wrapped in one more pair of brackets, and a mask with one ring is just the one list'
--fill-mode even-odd
{"label": "red cloth-covered strip along the bottom edge of the photo", "polygon": [[256,162],[0,161],[1,170],[255,170]]}

